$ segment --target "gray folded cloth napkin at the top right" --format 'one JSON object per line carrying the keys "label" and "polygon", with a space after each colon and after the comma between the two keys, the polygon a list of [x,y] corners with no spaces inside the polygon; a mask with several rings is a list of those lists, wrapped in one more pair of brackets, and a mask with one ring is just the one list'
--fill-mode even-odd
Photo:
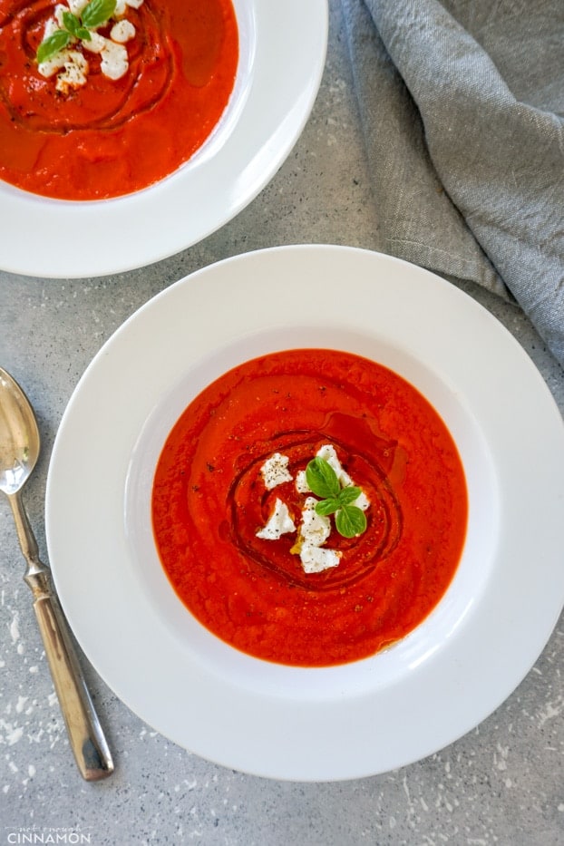
{"label": "gray folded cloth napkin at the top right", "polygon": [[563,0],[342,4],[377,248],[514,297],[564,365]]}

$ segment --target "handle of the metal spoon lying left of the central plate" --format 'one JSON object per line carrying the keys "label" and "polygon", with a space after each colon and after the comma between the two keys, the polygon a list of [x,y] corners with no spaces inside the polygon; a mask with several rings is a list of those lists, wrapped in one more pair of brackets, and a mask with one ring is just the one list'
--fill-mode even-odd
{"label": "handle of the metal spoon lying left of the central plate", "polygon": [[19,493],[8,499],[27,569],[24,581],[34,595],[34,611],[44,641],[56,694],[76,763],[87,782],[113,772],[112,754],[86,687],[68,624],[54,595],[49,569],[39,559],[37,543]]}

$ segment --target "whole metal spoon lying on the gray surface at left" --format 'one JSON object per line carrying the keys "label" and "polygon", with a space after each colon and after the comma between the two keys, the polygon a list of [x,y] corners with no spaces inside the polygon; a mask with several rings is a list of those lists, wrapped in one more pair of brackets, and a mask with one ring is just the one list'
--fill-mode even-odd
{"label": "whole metal spoon lying on the gray surface at left", "polygon": [[4,491],[14,513],[18,540],[27,561],[24,581],[34,595],[35,616],[74,757],[83,778],[92,782],[113,772],[112,754],[94,711],[68,624],[54,595],[49,569],[39,559],[20,496],[39,450],[39,429],[31,404],[15,379],[0,367],[0,491]]}

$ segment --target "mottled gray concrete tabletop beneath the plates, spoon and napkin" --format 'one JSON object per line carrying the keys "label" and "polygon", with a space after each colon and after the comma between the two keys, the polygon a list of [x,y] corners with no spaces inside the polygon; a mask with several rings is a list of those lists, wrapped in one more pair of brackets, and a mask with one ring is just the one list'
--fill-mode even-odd
{"label": "mottled gray concrete tabletop beneath the plates, spoon and napkin", "polygon": [[[116,277],[0,273],[0,362],[24,385],[44,437],[25,496],[44,555],[57,425],[84,368],[126,317],[190,271],[236,253],[298,242],[378,248],[340,4],[330,5],[326,72],[311,119],[237,219],[180,255]],[[564,410],[564,375],[520,310],[470,293],[515,335]],[[398,772],[352,782],[272,782],[208,763],[142,724],[88,670],[117,768],[108,781],[86,784],[53,695],[5,502],[0,549],[0,844],[564,843],[564,619],[518,689],[472,733]]]}

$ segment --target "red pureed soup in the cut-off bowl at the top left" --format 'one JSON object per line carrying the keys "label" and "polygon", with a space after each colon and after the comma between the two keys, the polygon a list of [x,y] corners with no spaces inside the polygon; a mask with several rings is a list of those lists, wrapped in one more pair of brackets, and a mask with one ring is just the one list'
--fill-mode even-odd
{"label": "red pureed soup in the cut-off bowl at the top left", "polygon": [[57,199],[146,188],[209,138],[237,65],[230,0],[0,0],[0,179]]}

